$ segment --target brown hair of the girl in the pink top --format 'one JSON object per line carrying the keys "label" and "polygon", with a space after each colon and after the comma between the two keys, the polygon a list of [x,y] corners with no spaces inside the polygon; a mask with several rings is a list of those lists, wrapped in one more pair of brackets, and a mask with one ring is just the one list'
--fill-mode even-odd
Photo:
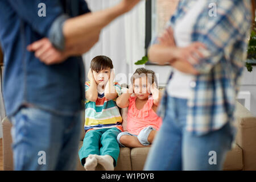
{"label": "brown hair of the girl in the pink top", "polygon": [[150,69],[145,68],[137,68],[136,71],[131,76],[131,82],[133,83],[136,78],[147,76],[147,80],[150,84],[155,82],[156,86],[158,86],[158,80],[155,76],[155,72]]}

